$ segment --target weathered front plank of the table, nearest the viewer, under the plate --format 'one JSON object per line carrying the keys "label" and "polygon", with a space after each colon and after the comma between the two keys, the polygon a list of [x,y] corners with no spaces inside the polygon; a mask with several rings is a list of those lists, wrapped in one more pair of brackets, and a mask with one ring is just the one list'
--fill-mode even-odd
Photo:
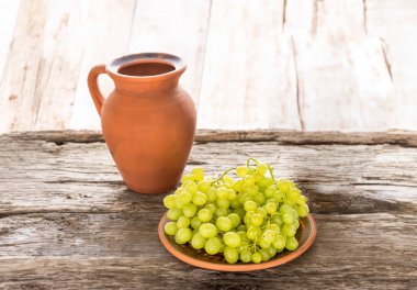
{"label": "weathered front plank of the table, nearest the viewer, under the plate", "polygon": [[[416,215],[315,214],[315,245],[259,272],[221,274],[172,257],[155,228],[162,207],[133,214],[29,214],[0,220],[0,287],[413,289]],[[7,265],[7,267],[5,267]],[[296,278],[294,278],[296,277]]]}

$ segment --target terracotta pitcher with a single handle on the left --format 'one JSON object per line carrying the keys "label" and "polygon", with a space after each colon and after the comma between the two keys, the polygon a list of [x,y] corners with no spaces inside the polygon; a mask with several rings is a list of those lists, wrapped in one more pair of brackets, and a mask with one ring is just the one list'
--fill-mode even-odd
{"label": "terracotta pitcher with a single handle on the left", "polygon": [[[136,192],[166,192],[180,181],[195,133],[194,103],[178,85],[184,70],[174,55],[145,53],[98,65],[88,76],[105,143]],[[100,74],[115,85],[106,99],[98,86]]]}

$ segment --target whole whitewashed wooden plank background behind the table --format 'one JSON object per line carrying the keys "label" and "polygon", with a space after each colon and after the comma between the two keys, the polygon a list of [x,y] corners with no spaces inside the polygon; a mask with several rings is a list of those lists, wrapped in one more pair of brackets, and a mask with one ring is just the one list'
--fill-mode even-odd
{"label": "whole whitewashed wooden plank background behind the table", "polygon": [[417,0],[0,0],[0,132],[99,129],[90,67],[156,51],[200,129],[417,131]]}

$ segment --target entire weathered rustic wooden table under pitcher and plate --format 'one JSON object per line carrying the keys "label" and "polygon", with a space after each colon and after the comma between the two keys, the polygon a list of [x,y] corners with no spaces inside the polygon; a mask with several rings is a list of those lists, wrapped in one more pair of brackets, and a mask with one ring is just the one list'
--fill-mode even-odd
{"label": "entire weathered rustic wooden table under pitcher and plate", "polygon": [[296,180],[317,238],[283,266],[215,272],[161,246],[165,194],[127,190],[99,133],[0,136],[0,288],[417,288],[417,135],[205,131],[187,169],[248,156]]}

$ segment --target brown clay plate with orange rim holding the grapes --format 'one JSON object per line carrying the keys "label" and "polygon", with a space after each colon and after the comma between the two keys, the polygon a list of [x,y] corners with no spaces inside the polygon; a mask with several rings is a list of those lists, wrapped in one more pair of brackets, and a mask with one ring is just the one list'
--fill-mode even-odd
{"label": "brown clay plate with orange rim holding the grapes", "polygon": [[189,244],[177,244],[173,236],[169,236],[164,232],[164,226],[167,222],[168,219],[166,214],[164,214],[159,222],[158,234],[162,245],[168,249],[168,252],[184,263],[216,271],[255,271],[285,264],[306,252],[313,245],[317,233],[316,222],[314,221],[313,215],[308,214],[306,217],[300,220],[300,227],[295,235],[298,241],[298,248],[296,250],[284,250],[278,254],[273,259],[266,263],[237,263],[232,265],[228,264],[222,255],[212,256],[206,254],[203,249],[198,250],[192,248]]}

